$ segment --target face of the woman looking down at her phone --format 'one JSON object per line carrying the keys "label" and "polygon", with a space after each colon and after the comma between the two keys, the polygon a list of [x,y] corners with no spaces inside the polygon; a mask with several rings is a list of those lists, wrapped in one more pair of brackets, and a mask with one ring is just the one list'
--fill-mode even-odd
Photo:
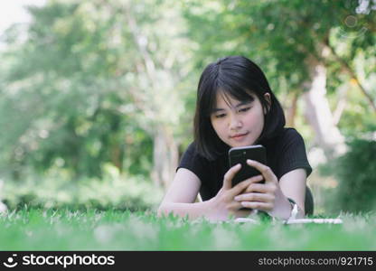
{"label": "face of the woman looking down at her phone", "polygon": [[[264,108],[256,94],[251,93],[252,100],[240,100],[226,97],[221,91],[217,93],[216,107],[211,112],[211,125],[221,140],[230,145],[254,145],[264,127]],[[270,95],[265,94],[270,105]]]}

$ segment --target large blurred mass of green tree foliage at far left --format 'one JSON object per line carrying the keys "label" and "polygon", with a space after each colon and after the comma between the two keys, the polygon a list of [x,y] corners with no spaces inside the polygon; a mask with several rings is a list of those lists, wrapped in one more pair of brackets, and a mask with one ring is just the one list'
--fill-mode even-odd
{"label": "large blurred mass of green tree foliage at far left", "polygon": [[[98,13],[84,16],[88,8],[59,2],[31,7],[29,38],[5,55],[1,122],[9,129],[3,130],[2,164],[15,180],[26,166],[39,173],[68,169],[76,180],[100,177],[101,164],[122,169],[124,156],[132,156],[124,138],[127,126],[139,133],[134,110],[125,115],[120,108],[128,96],[108,80],[115,52],[105,42],[113,22],[102,22]],[[146,146],[150,157],[149,138],[138,138],[135,145]]]}

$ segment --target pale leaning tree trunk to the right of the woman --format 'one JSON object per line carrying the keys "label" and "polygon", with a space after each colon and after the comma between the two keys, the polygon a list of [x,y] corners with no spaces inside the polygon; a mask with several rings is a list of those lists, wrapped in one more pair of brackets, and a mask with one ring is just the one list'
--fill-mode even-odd
{"label": "pale leaning tree trunk to the right of the woman", "polygon": [[326,69],[313,57],[308,60],[310,81],[305,83],[305,116],[315,131],[315,141],[327,159],[332,159],[346,150],[344,137],[334,124],[334,117],[326,95]]}

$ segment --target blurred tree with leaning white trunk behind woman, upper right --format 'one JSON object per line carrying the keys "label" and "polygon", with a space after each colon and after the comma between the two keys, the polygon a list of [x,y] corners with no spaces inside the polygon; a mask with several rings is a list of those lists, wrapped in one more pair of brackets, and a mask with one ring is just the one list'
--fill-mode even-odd
{"label": "blurred tree with leaning white trunk behind woman, upper right", "polygon": [[[294,125],[298,99],[305,99],[305,116],[315,131],[316,144],[328,158],[342,154],[345,146],[336,125],[341,107],[335,110],[334,119],[328,100],[328,76],[331,81],[337,79],[330,86],[334,89],[340,87],[338,81],[354,82],[369,102],[365,112],[375,114],[375,97],[359,79],[368,68],[358,65],[360,69],[355,69],[360,53],[375,60],[375,7],[370,2],[362,5],[362,11],[358,1],[228,0],[201,4],[191,0],[184,7],[191,37],[201,45],[196,51],[199,65],[213,56],[229,54],[243,54],[258,62],[275,91],[287,93],[287,125]],[[366,33],[362,27],[367,28]],[[336,51],[343,46],[345,53],[340,59]],[[374,75],[375,65],[371,65],[373,71],[367,75]],[[353,85],[349,88],[354,89]]]}

